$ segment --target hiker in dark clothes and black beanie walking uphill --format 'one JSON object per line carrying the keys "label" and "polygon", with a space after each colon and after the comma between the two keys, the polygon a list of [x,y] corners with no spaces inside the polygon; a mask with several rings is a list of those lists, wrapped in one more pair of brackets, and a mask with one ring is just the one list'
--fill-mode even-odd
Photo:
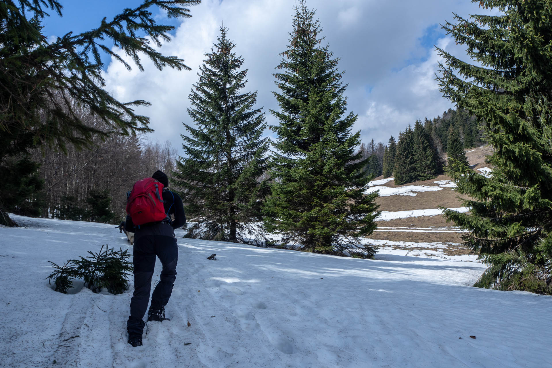
{"label": "hiker in dark clothes and black beanie walking uphill", "polygon": [[[127,231],[134,231],[134,295],[130,300],[130,316],[126,323],[126,329],[129,333],[128,343],[132,346],[142,345],[142,331],[144,330],[145,322],[144,314],[146,313],[147,303],[150,300],[151,278],[155,267],[155,257],[159,257],[163,270],[161,271],[161,280],[158,282],[151,296],[150,309],[147,312],[147,321],[163,321],[165,318],[165,306],[171,297],[174,280],[176,280],[176,264],[178,260],[178,247],[176,238],[174,237],[174,229],[181,227],[186,222],[184,214],[184,206],[182,199],[178,194],[166,189],[169,185],[168,178],[161,170],[157,170],[151,180],[149,178],[139,180],[129,192],[125,228]],[[144,184],[145,183],[145,184]],[[162,199],[165,218],[160,221],[147,221],[142,217],[144,214],[140,211],[136,212],[132,206],[136,205],[135,198],[141,189],[140,185],[149,185],[149,188],[160,187],[162,184]],[[155,187],[154,187],[155,186]],[[157,193],[157,196],[159,194]],[[156,194],[143,196],[153,198],[154,202]],[[157,204],[160,205],[158,201]],[[136,205],[137,206],[137,205]],[[130,212],[129,212],[130,209]],[[134,212],[133,212],[134,211]],[[159,210],[158,212],[161,212]],[[135,222],[132,221],[130,213],[134,213]],[[171,215],[174,215],[174,220],[171,220]],[[147,215],[150,216],[150,215]],[[155,214],[157,218],[162,218],[163,214]],[[141,223],[141,225],[137,225]]]}

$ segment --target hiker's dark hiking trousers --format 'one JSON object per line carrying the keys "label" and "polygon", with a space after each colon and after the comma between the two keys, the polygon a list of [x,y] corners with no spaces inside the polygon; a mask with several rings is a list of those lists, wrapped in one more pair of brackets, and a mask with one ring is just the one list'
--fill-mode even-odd
{"label": "hiker's dark hiking trousers", "polygon": [[129,336],[142,335],[142,330],[144,330],[145,323],[142,318],[144,318],[150,299],[151,278],[156,256],[159,257],[163,269],[161,280],[151,296],[150,309],[159,310],[167,305],[171,297],[178,261],[178,247],[172,227],[161,223],[136,230],[133,255],[134,295],[130,300],[130,316],[126,325]]}

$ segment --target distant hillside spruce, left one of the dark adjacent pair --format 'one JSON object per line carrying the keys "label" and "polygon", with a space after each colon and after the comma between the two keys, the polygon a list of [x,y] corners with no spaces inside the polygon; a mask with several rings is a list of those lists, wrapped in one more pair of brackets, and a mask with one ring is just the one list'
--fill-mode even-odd
{"label": "distant hillside spruce, left one of the dark adjacent pair", "polygon": [[401,185],[416,180],[416,159],[414,157],[414,131],[408,125],[399,134],[397,151],[395,153],[395,168],[393,170],[395,184]]}

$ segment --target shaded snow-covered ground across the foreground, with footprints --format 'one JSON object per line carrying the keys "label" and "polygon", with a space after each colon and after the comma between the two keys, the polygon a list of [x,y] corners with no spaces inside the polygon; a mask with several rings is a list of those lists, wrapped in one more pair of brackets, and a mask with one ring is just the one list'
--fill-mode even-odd
{"label": "shaded snow-covered ground across the foreground, with footprints", "polygon": [[[363,260],[182,238],[171,321],[148,323],[144,346],[132,348],[132,282],[121,295],[63,295],[45,280],[47,260],[62,264],[106,243],[131,249],[123,234],[13,217],[25,227],[0,227],[2,367],[550,364],[552,297],[470,287],[480,263],[390,247]],[[213,253],[216,261],[206,259]],[[160,270],[157,262],[153,282]]]}

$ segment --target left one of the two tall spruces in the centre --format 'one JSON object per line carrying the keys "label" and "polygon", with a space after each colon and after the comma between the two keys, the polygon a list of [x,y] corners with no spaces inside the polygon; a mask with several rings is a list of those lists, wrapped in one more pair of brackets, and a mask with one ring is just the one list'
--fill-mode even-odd
{"label": "left one of the two tall spruces in the centre", "polygon": [[254,108],[257,92],[242,92],[248,70],[241,69],[244,60],[234,47],[221,26],[189,95],[195,127],[184,124],[187,157],[177,162],[173,183],[195,217],[190,236],[250,242],[252,223],[261,219],[258,200],[269,138],[261,138],[266,122],[262,109]]}

